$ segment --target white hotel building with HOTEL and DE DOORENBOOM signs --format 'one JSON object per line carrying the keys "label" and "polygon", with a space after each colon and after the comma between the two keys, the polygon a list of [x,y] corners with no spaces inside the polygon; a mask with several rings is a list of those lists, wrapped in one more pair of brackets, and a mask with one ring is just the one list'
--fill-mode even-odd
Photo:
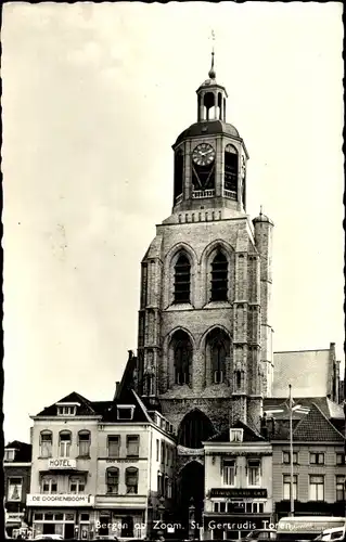
{"label": "white hotel building with HOTEL and DE DOORENBOOM signs", "polygon": [[144,537],[149,505],[156,515],[158,503],[171,506],[171,426],[134,391],[114,401],[73,392],[33,420],[27,507],[35,535]]}

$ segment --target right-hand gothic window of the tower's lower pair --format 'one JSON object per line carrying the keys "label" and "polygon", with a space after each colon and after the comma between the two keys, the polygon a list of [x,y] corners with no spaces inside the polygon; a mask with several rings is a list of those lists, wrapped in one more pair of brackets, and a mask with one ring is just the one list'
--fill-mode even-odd
{"label": "right-hand gothic window of the tower's lower pair", "polygon": [[213,330],[206,338],[207,385],[226,382],[230,339],[223,330]]}

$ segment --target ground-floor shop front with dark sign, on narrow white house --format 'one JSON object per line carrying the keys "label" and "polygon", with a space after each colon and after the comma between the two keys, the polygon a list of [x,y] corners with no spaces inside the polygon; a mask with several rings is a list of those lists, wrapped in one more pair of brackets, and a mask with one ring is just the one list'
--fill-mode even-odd
{"label": "ground-floor shop front with dark sign, on narrow white house", "polygon": [[271,524],[266,489],[212,489],[209,499],[213,512],[204,514],[205,538],[240,539]]}

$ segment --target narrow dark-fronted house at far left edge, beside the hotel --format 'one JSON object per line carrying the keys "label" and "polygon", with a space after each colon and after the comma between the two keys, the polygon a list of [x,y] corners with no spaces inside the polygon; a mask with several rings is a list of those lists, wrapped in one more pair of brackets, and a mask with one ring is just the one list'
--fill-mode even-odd
{"label": "narrow dark-fronted house at far left edge, beside the hotel", "polygon": [[4,513],[5,530],[27,530],[26,495],[30,490],[31,444],[14,440],[4,447]]}

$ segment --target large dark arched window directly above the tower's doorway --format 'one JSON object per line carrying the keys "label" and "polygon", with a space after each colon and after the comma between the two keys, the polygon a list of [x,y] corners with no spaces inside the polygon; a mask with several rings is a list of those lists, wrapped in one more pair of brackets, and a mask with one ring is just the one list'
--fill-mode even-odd
{"label": "large dark arched window directly above the tower's doorway", "polygon": [[187,448],[203,447],[202,442],[215,434],[210,420],[198,409],[189,412],[178,431],[178,443]]}

